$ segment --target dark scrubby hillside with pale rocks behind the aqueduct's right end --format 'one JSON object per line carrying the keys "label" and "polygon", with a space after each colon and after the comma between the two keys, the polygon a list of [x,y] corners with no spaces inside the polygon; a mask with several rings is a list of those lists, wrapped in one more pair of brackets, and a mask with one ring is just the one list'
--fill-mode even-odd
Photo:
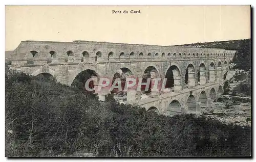
{"label": "dark scrubby hillside with pale rocks behind the aqueduct's right end", "polygon": [[175,45],[198,48],[223,48],[237,50],[230,70],[225,74],[225,94],[236,96],[251,95],[251,39],[230,40],[219,42],[205,42]]}

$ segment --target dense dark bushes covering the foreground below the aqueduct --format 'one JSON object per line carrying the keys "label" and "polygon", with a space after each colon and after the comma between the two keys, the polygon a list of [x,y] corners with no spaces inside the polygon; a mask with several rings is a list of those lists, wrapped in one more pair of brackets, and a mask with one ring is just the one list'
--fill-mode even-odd
{"label": "dense dark bushes covering the foreground below the aqueduct", "polygon": [[193,115],[165,117],[54,79],[6,74],[6,156],[233,156],[251,128]]}

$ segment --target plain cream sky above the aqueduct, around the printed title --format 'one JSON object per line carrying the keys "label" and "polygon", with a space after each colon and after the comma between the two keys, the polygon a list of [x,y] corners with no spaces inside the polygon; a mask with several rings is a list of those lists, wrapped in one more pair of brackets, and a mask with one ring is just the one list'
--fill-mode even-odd
{"label": "plain cream sky above the aqueduct, around the printed title", "polygon": [[177,45],[250,38],[250,6],[6,6],[5,14],[6,50],[23,40]]}

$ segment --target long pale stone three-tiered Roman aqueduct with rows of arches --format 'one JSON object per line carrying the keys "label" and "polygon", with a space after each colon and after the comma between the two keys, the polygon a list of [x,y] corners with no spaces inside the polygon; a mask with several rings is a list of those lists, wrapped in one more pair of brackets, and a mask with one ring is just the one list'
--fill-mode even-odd
{"label": "long pale stone three-tiered Roman aqueduct with rows of arches", "polygon": [[[83,71],[93,71],[92,77],[97,78],[167,78],[163,91],[128,90],[115,98],[172,116],[200,113],[201,107],[210,106],[223,93],[225,73],[235,53],[216,48],[22,41],[11,54],[9,67],[34,76],[52,75],[66,85],[72,85]],[[108,93],[99,92],[99,98]]]}

